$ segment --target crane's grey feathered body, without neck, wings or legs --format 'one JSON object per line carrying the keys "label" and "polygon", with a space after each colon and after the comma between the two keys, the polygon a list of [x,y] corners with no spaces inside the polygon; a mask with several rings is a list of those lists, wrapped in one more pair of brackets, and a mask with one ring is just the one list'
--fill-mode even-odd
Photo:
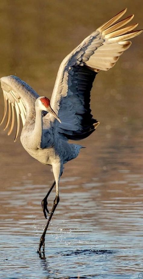
{"label": "crane's grey feathered body, without neck, wings or legs", "polygon": [[[28,127],[27,127],[28,125]],[[27,133],[28,130],[28,133]],[[43,130],[42,138],[37,146],[33,144],[34,122],[29,125],[25,123],[21,133],[21,143],[24,149],[35,159],[46,165],[52,165],[57,161],[65,164],[75,159],[81,145],[70,144],[62,140],[58,135],[54,135],[51,130]]]}

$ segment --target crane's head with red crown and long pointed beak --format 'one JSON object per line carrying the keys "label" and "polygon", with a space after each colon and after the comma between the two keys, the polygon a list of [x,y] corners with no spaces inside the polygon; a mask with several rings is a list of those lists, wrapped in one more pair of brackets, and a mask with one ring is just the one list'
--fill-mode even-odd
{"label": "crane's head with red crown and long pointed beak", "polygon": [[47,97],[37,98],[35,102],[35,106],[38,107],[41,111],[47,111],[51,113],[61,123],[61,120],[56,115],[55,111],[53,111],[52,107],[50,106],[50,100]]}

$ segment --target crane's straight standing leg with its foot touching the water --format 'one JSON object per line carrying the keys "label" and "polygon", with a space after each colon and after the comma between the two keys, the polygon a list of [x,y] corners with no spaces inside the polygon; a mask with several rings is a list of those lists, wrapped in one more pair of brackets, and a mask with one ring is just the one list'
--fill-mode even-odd
{"label": "crane's straight standing leg with its foot touching the water", "polygon": [[[44,252],[45,252],[45,235],[46,235],[46,231],[48,229],[48,226],[49,226],[49,223],[52,219],[52,216],[53,216],[53,213],[59,203],[59,178],[62,174],[62,166],[60,163],[58,164],[53,164],[52,165],[52,169],[53,169],[53,174],[54,174],[54,177],[55,177],[55,181],[56,181],[56,197],[55,197],[55,200],[53,202],[53,207],[52,207],[52,211],[49,215],[49,218],[48,218],[48,221],[46,223],[46,226],[45,226],[45,229],[43,231],[43,234],[42,236],[40,237],[40,242],[39,242],[39,253],[41,251],[41,247],[43,247],[43,255],[44,255]],[[53,186],[54,187],[54,186]],[[52,191],[52,190],[51,190]]]}

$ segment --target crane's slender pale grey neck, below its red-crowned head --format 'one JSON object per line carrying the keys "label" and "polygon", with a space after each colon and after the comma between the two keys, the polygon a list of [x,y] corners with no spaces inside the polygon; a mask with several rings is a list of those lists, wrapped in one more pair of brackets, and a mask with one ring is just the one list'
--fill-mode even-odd
{"label": "crane's slender pale grey neck, below its red-crowned head", "polygon": [[43,134],[43,119],[42,111],[39,108],[35,107],[36,117],[35,117],[35,126],[32,133],[33,147],[40,148]]}

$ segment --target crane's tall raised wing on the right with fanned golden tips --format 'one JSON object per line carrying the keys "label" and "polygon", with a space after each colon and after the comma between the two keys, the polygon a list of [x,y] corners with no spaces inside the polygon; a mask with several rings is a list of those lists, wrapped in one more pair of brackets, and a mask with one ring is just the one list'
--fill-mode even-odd
{"label": "crane's tall raised wing on the right with fanned golden tips", "polygon": [[100,26],[62,61],[51,98],[51,107],[62,123],[50,114],[44,117],[45,125],[49,120],[55,121],[61,136],[78,140],[95,130],[97,120],[90,110],[90,91],[95,76],[100,70],[112,68],[131,45],[126,40],[142,32],[132,31],[138,24],[121,28],[134,17],[131,15],[117,22],[126,10]]}

